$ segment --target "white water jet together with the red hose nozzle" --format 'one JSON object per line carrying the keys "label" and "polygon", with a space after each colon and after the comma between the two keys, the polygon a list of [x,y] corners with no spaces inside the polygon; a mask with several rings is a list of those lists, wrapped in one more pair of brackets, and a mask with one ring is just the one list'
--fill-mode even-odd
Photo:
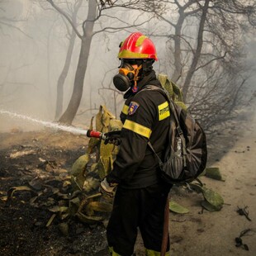
{"label": "white water jet together with the red hose nozzle", "polygon": [[102,132],[96,131],[96,130],[84,130],[84,129],[78,128],[78,127],[63,126],[63,125],[59,125],[58,123],[52,123],[50,121],[41,121],[41,120],[38,120],[38,119],[33,118],[31,116],[25,116],[25,115],[21,115],[21,114],[11,112],[11,111],[0,110],[0,114],[7,115],[7,116],[12,116],[12,117],[15,117],[15,118],[20,118],[20,119],[26,120],[26,121],[31,121],[31,122],[34,122],[36,124],[39,124],[39,125],[42,125],[42,126],[45,126],[45,127],[49,127],[49,128],[55,129],[55,130],[64,130],[64,131],[71,132],[73,134],[86,135],[88,137],[93,137],[93,138],[106,140],[106,136]]}

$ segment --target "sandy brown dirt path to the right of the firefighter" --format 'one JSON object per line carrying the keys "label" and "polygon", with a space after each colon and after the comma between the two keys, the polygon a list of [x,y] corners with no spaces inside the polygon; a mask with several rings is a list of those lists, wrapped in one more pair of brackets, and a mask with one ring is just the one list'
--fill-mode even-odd
{"label": "sandy brown dirt path to the right of the firefighter", "polygon": [[[235,140],[236,138],[234,138]],[[183,216],[171,214],[170,234],[172,255],[256,255],[256,114],[237,140],[233,149],[212,166],[219,167],[225,182],[201,178],[207,187],[220,192],[225,205],[221,211],[198,214],[200,195],[183,198],[183,206],[190,213]],[[174,196],[179,201],[178,196]],[[249,221],[239,216],[237,206],[248,206]],[[183,222],[177,222],[183,221]],[[249,251],[235,247],[235,237],[242,230],[254,229],[244,236],[243,243]]]}

